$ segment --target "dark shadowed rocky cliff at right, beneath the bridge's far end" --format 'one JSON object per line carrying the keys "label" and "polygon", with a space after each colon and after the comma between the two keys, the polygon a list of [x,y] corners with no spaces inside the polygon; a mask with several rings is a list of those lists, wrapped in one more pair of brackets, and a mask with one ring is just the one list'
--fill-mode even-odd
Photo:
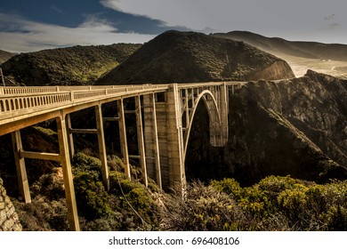
{"label": "dark shadowed rocky cliff at right, beneath the bridge's far end", "polygon": [[346,81],[312,71],[277,83],[247,83],[230,95],[229,142],[222,149],[208,145],[207,132],[199,133],[208,131],[201,105],[186,158],[188,176],[230,176],[245,185],[270,174],[347,179],[346,87]]}

